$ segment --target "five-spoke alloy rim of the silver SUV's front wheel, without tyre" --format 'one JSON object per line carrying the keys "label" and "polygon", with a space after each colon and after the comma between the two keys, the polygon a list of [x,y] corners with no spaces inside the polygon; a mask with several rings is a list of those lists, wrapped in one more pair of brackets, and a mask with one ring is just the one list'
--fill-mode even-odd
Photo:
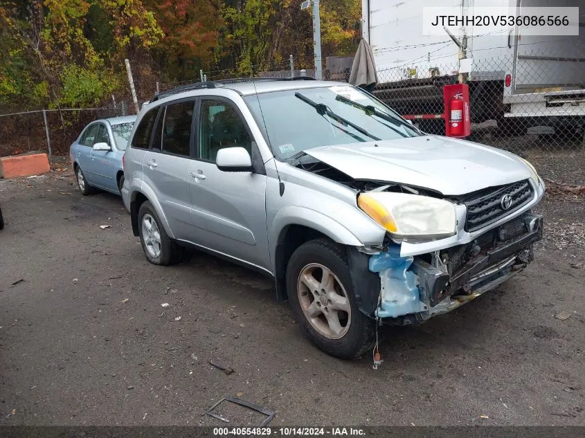
{"label": "five-spoke alloy rim of the silver SUV's front wheel, without tyre", "polygon": [[327,339],[339,339],[350,329],[352,309],[348,293],[332,271],[322,264],[307,264],[298,276],[300,307],[309,323]]}

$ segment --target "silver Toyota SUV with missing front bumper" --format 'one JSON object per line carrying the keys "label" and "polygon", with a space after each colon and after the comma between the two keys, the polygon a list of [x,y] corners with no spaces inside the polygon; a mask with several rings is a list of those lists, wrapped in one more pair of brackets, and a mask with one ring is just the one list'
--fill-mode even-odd
{"label": "silver Toyota SUV with missing front bumper", "polygon": [[149,262],[206,250],[273,277],[305,334],[357,357],[382,322],[456,309],[532,261],[527,161],[429,136],[361,89],[204,82],[138,115],[122,194]]}

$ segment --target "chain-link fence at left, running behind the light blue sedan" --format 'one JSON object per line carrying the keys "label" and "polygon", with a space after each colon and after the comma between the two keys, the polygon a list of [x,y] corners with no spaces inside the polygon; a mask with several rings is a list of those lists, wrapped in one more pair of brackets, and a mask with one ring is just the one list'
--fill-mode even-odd
{"label": "chain-link fence at left, running behind the light blue sedan", "polygon": [[0,156],[46,152],[69,154],[69,146],[93,120],[126,116],[134,107],[115,106],[81,109],[47,109],[0,115]]}

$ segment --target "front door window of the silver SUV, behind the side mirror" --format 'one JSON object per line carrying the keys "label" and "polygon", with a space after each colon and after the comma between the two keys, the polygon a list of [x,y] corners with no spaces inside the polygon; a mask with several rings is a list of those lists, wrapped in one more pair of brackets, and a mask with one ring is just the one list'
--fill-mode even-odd
{"label": "front door window of the silver SUV, behind the side mirror", "polygon": [[244,120],[222,100],[202,100],[199,118],[199,156],[215,162],[224,147],[244,147],[251,154],[252,141]]}

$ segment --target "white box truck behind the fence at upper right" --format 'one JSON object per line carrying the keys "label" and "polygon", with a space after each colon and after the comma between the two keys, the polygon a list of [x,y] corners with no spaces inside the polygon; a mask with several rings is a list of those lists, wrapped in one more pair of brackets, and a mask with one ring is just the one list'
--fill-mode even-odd
{"label": "white box truck behind the fence at upper right", "polygon": [[[521,123],[524,131],[553,134],[585,128],[585,0],[362,0],[362,36],[372,46],[379,85],[375,93],[409,118],[443,113],[442,85],[458,81],[462,51],[444,35],[423,35],[423,8],[452,7],[467,15],[476,8],[581,7],[579,36],[485,33],[460,26],[471,58],[468,84],[471,120]],[[467,61],[469,63],[469,61]],[[433,123],[434,125],[429,125]],[[423,121],[424,123],[424,121]],[[427,129],[444,127],[429,120]]]}

